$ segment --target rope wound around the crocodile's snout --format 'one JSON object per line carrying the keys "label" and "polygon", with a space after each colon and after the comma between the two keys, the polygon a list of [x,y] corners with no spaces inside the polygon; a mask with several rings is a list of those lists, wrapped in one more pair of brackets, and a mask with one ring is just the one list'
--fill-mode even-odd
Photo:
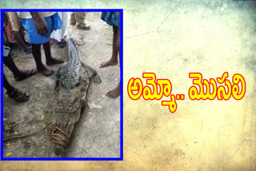
{"label": "rope wound around the crocodile's snout", "polygon": [[[65,148],[69,145],[70,138],[62,129],[58,128],[58,126],[56,126],[53,122],[48,127],[48,131],[50,133],[51,141],[53,143],[63,145]],[[56,133],[57,131],[59,131],[60,133]]]}

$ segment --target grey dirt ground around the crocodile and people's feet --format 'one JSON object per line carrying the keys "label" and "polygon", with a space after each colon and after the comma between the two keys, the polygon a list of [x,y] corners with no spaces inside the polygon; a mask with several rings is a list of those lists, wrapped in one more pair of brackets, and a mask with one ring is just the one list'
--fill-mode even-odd
{"label": "grey dirt ground around the crocodile and people's feet", "polygon": [[[74,38],[81,46],[78,50],[82,61],[94,68],[102,78],[102,84],[90,83],[87,99],[88,107],[83,111],[75,125],[70,147],[63,157],[119,157],[120,155],[120,97],[110,99],[105,94],[118,85],[119,66],[100,69],[101,62],[108,60],[112,50],[112,28],[100,18],[101,13],[87,13],[86,23],[90,30],[77,30],[68,26],[68,38]],[[56,44],[51,46],[54,57],[67,59],[68,46],[61,49]],[[14,62],[20,70],[35,69],[32,55],[25,56],[21,49],[13,50]],[[42,59],[45,62],[42,50]],[[59,65],[51,66],[58,70]],[[55,75],[45,77],[36,74],[22,82],[15,82],[13,74],[4,68],[4,73],[11,85],[30,93],[26,103],[15,102],[4,93],[4,123],[14,123],[11,135],[24,135],[42,129],[53,117]],[[5,91],[5,89],[4,89]],[[9,157],[46,157],[50,145],[47,130],[30,137],[25,137],[4,144],[4,156]]]}

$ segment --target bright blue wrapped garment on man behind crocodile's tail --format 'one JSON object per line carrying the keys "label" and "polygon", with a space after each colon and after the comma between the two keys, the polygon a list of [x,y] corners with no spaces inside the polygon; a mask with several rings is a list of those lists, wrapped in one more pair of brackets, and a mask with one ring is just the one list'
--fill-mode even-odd
{"label": "bright blue wrapped garment on man behind crocodile's tail", "polygon": [[42,44],[50,41],[50,34],[54,30],[58,30],[62,28],[62,20],[59,18],[58,13],[54,15],[44,18],[46,21],[46,26],[48,27],[49,32],[45,35],[38,34],[33,19],[24,19],[20,18],[22,22],[22,26],[26,30],[26,34],[28,35],[30,43],[33,44]]}

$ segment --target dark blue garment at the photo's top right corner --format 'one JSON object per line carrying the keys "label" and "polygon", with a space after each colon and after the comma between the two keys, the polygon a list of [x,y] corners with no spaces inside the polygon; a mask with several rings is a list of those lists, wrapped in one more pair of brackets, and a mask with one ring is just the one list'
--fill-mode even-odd
{"label": "dark blue garment at the photo's top right corner", "polygon": [[118,26],[120,28],[120,13],[118,12],[102,12],[102,20],[110,26]]}

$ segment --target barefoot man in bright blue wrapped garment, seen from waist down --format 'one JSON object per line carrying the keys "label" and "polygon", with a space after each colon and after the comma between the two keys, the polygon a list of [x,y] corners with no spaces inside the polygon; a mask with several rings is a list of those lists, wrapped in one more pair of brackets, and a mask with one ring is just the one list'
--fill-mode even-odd
{"label": "barefoot man in bright blue wrapped garment, seen from waist down", "polygon": [[[50,34],[62,28],[62,21],[56,12],[20,12],[19,18],[25,28],[34,56],[37,70],[46,76],[54,74],[47,66],[63,63],[61,58],[53,58],[50,53]],[[42,64],[41,45],[45,51],[46,65]]]}

